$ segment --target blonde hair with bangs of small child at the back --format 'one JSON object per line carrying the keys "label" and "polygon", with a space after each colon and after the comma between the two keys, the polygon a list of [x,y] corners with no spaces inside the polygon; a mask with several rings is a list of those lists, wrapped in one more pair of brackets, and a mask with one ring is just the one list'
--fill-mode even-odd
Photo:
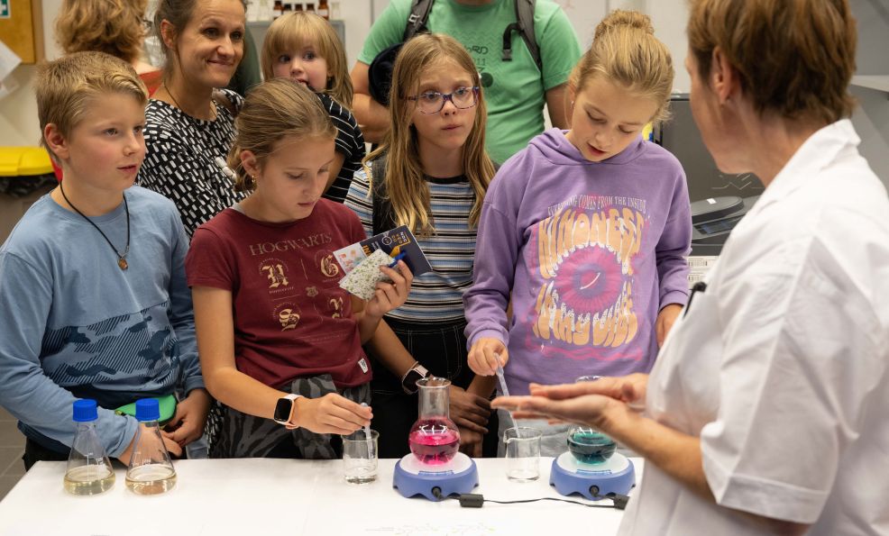
{"label": "blonde hair with bangs of small child at the back", "polygon": [[262,42],[262,77],[266,80],[275,77],[272,68],[280,55],[300,49],[306,43],[315,45],[316,52],[325,59],[327,70],[330,71],[327,85],[313,89],[332,96],[336,102],[347,108],[352,108],[352,77],[347,69],[343,42],[336,35],[334,27],[324,17],[314,13],[292,12],[271,23],[265,33],[265,41]]}

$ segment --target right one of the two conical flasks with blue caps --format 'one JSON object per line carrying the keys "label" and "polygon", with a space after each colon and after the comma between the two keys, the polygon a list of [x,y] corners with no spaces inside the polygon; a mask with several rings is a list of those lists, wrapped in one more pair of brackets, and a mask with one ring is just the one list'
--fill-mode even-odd
{"label": "right one of the two conical flasks with blue caps", "polygon": [[158,495],[176,486],[176,470],[160,437],[160,406],[156,398],[136,401],[136,438],[126,468],[126,486],[138,495]]}

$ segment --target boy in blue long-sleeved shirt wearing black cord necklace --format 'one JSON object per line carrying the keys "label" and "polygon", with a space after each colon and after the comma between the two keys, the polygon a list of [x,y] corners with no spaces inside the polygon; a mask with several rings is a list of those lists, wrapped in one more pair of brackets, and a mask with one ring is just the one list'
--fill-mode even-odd
{"label": "boy in blue long-sleeved shirt wearing black cord necklace", "polygon": [[137,423],[114,409],[184,393],[163,432],[179,455],[201,436],[210,398],[179,213],[133,186],[145,86],[123,60],[78,52],[42,66],[35,93],[41,143],[65,178],[0,248],[0,405],[26,437],[25,468],[68,458],[77,398],[96,399],[99,438],[126,463]]}

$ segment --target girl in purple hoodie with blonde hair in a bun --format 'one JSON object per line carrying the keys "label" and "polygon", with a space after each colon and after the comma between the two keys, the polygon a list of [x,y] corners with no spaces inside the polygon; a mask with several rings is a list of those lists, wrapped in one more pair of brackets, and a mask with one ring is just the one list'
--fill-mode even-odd
{"label": "girl in purple hoodie with blonde hair in a bun", "polygon": [[[685,304],[685,174],[640,135],[668,114],[673,77],[646,15],[609,14],[569,80],[572,129],[540,134],[491,182],[466,336],[476,374],[509,361],[511,395],[647,372]],[[564,451],[564,431],[549,432],[550,454]]]}

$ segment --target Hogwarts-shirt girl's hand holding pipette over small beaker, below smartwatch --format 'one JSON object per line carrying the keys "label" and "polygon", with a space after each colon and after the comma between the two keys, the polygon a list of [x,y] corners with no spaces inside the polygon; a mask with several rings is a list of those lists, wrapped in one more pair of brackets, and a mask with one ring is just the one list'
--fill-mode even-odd
{"label": "Hogwarts-shirt girl's hand holding pipette over small beaker, below smartwatch", "polygon": [[355,404],[336,393],[321,398],[298,398],[296,404],[296,424],[309,432],[348,435],[369,426],[373,417],[370,407]]}

